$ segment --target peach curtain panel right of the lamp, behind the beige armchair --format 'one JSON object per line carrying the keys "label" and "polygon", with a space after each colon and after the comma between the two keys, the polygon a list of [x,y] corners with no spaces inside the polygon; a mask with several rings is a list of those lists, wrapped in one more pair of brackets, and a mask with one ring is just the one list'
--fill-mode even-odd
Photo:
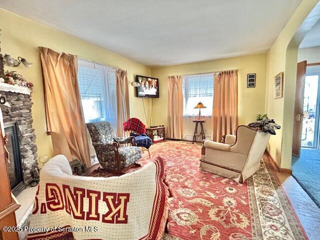
{"label": "peach curtain panel right of the lamp, behind the beige armchair", "polygon": [[235,134],[238,125],[238,70],[214,73],[212,109],[213,141]]}

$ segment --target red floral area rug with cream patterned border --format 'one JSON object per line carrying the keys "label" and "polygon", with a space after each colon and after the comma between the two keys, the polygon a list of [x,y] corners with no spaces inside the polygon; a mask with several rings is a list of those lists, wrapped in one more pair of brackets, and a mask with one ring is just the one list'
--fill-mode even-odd
{"label": "red floral area rug with cream patterned border", "polygon": [[[199,144],[166,141],[150,147],[166,159],[172,193],[163,240],[307,239],[267,158],[243,184],[199,170]],[[147,162],[147,153],[141,163]],[[94,175],[94,174],[93,174]]]}

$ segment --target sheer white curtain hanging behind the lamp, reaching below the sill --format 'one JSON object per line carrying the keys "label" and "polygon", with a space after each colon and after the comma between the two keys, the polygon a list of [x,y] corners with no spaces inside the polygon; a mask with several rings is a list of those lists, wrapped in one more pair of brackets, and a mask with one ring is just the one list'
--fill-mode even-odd
{"label": "sheer white curtain hanging behind the lamp, reaching below the sill", "polygon": [[[213,74],[194,74],[182,76],[183,94],[183,139],[191,140],[194,132],[194,117],[199,114],[199,109],[194,109],[201,101],[206,108],[201,108],[201,117],[204,118],[205,135],[211,135],[211,117],[213,103]],[[198,126],[198,131],[200,127]]]}

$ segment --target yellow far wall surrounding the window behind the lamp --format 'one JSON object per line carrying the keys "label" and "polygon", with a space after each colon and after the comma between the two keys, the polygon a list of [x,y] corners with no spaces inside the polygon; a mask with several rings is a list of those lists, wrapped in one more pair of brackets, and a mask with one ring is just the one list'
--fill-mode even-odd
{"label": "yellow far wall surrounding the window behind the lamp", "polygon": [[[238,69],[238,120],[239,124],[247,124],[255,120],[255,115],[264,113],[266,54],[255,54],[224,58],[219,60],[196,62],[189,64],[151,68],[152,77],[159,78],[159,98],[153,99],[152,124],[167,124],[167,76],[194,73],[214,72]],[[256,73],[256,87],[246,87],[248,73]],[[189,132],[194,123],[188,122]],[[206,135],[211,135],[210,124],[206,123]],[[192,134],[192,133],[191,133]]]}

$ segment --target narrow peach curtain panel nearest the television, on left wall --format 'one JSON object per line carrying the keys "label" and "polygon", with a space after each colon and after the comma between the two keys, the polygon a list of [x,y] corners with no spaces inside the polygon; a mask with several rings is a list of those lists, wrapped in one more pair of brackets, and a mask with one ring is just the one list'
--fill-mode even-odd
{"label": "narrow peach curtain panel nearest the television, on left wall", "polygon": [[116,133],[125,136],[123,122],[130,118],[129,87],[126,71],[116,70]]}

